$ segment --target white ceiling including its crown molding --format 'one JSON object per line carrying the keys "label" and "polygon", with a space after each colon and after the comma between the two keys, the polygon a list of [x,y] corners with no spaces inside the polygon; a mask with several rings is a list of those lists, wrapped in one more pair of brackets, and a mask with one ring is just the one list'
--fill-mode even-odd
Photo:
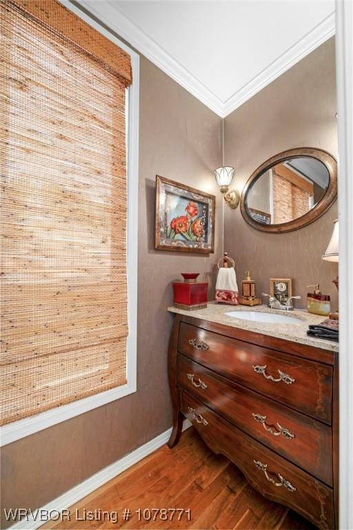
{"label": "white ceiling including its crown molding", "polygon": [[81,0],[225,117],[334,35],[334,0]]}

